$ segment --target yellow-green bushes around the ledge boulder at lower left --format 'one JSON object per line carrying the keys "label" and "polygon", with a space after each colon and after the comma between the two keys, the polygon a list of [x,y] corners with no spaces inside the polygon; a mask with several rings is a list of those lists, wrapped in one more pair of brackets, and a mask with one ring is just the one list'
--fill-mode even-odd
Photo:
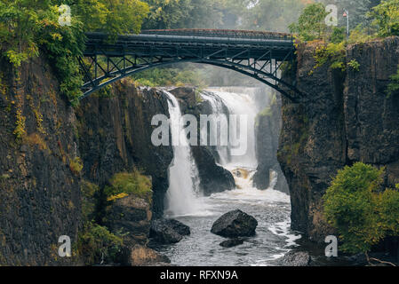
{"label": "yellow-green bushes around the ledge boulder at lower left", "polygon": [[105,202],[112,204],[118,199],[134,194],[146,199],[148,204],[151,203],[151,180],[141,175],[139,170],[118,173],[109,180],[109,184],[101,193],[98,185],[87,181],[82,183],[84,227],[79,233],[76,250],[85,264],[116,263],[124,247],[124,237],[128,233],[108,227],[109,218],[104,216]]}

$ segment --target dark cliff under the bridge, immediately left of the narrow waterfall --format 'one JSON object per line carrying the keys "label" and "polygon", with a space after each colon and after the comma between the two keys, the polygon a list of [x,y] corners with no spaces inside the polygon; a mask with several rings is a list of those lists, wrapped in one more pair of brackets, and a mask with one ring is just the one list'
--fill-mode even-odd
{"label": "dark cliff under the bridge, immediately left of the narrow waterfall", "polygon": [[165,97],[156,89],[137,88],[129,81],[116,83],[111,98],[84,99],[76,112],[84,177],[105,185],[115,173],[136,167],[152,177],[155,217],[164,212],[164,193],[172,146],[153,146],[151,120],[169,116]]}

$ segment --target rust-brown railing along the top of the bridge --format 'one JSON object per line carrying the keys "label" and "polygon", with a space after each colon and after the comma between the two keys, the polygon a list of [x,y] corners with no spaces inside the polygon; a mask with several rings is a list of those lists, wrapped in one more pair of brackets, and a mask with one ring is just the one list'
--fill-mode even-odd
{"label": "rust-brown railing along the top of the bridge", "polygon": [[292,40],[291,34],[264,32],[253,30],[234,29],[147,29],[142,30],[141,35],[164,35],[164,36],[207,36],[207,37],[230,37],[230,38],[251,38],[251,39],[286,39]]}

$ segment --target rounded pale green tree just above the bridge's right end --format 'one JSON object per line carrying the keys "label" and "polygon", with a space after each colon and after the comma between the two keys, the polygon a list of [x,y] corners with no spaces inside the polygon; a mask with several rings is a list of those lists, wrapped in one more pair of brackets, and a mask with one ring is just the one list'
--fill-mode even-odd
{"label": "rounded pale green tree just above the bridge's right end", "polygon": [[327,31],[325,6],[321,3],[308,4],[299,16],[298,23],[289,26],[291,33],[296,33],[305,41],[322,39]]}

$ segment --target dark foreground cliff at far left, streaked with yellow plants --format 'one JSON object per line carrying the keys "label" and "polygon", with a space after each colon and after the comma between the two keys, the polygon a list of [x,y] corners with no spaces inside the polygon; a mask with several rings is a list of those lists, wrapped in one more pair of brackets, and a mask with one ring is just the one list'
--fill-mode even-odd
{"label": "dark foreground cliff at far left, streaked with yellow plants", "polygon": [[0,66],[0,264],[76,264],[58,256],[81,219],[74,110],[44,60]]}

